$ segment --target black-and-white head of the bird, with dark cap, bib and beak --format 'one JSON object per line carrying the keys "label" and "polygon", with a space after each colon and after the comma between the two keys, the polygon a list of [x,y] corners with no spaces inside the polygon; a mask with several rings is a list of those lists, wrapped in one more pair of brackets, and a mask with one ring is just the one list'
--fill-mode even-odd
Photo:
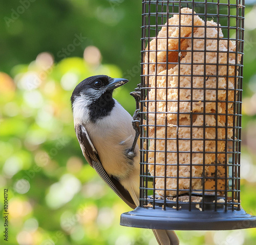
{"label": "black-and-white head of the bird, with dark cap, bib and beak", "polygon": [[[123,78],[106,75],[92,76],[81,81],[71,96],[73,114],[85,119],[88,115],[101,117],[114,106],[113,91],[128,82]],[[81,116],[83,115],[83,116]],[[92,116],[92,117],[93,117]]]}

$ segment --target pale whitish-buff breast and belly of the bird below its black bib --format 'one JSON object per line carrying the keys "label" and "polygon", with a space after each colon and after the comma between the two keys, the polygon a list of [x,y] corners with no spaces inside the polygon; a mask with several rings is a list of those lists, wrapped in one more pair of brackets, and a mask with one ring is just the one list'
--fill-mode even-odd
{"label": "pale whitish-buff breast and belly of the bird below its black bib", "polygon": [[[133,170],[131,162],[127,159],[125,151],[132,147],[135,130],[132,127],[133,118],[115,101],[115,106],[109,116],[96,123],[83,125],[94,144],[100,161],[109,174],[124,179]],[[137,157],[139,155],[136,147]]]}

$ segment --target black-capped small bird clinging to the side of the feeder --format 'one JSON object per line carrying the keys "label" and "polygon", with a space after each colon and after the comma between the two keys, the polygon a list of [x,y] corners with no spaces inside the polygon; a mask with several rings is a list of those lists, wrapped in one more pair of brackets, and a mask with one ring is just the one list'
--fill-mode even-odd
{"label": "black-capped small bird clinging to the side of the feeder", "polygon": [[[132,116],[113,98],[129,80],[107,75],[81,81],[71,96],[76,136],[84,158],[132,209],[139,206],[140,154]],[[159,245],[178,245],[174,231],[153,230]]]}

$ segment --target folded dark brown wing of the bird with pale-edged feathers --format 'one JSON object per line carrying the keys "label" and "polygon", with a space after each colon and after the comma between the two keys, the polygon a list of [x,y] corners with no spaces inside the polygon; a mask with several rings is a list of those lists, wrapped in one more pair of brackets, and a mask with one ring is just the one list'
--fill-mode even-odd
{"label": "folded dark brown wing of the bird with pale-edged feathers", "polygon": [[103,168],[97,150],[95,149],[86,128],[81,124],[75,126],[76,137],[82,149],[84,158],[87,162],[96,170],[101,179],[119,196],[122,200],[129,205],[131,208],[135,209],[136,205],[130,195],[130,193],[124,189],[118,180],[110,176]]}

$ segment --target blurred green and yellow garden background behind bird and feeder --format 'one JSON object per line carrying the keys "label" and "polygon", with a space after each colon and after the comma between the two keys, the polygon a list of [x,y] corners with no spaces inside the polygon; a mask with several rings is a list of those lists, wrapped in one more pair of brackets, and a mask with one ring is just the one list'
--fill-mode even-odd
{"label": "blurred green and yellow garden background behind bird and feeder", "polygon": [[[256,5],[246,5],[242,133],[243,208],[256,215]],[[70,96],[84,78],[130,83],[115,98],[133,114],[140,82],[141,1],[21,0],[0,7],[0,208],[8,188],[9,240],[19,245],[156,244],[119,226],[130,208],[85,163]],[[181,244],[256,244],[256,229],[179,231]]]}

